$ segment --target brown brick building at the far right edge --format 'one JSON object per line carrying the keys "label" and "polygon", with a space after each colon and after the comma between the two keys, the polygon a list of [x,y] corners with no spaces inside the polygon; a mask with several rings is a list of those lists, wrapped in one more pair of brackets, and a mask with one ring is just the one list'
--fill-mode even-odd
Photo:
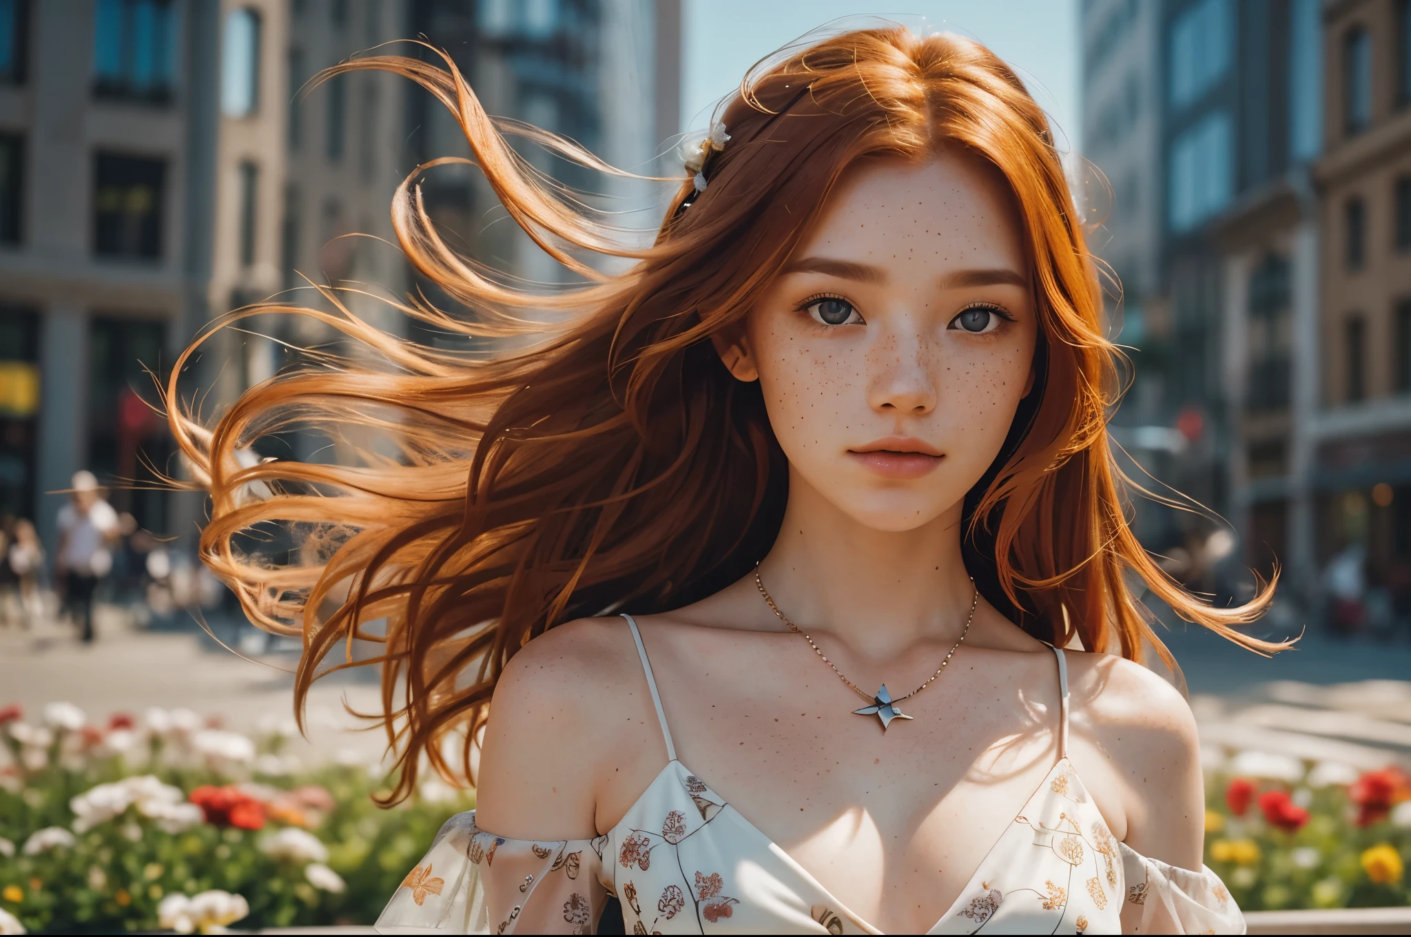
{"label": "brown brick building at the far right edge", "polygon": [[1309,426],[1321,559],[1362,545],[1411,583],[1411,4],[1326,3],[1316,164],[1324,381]]}

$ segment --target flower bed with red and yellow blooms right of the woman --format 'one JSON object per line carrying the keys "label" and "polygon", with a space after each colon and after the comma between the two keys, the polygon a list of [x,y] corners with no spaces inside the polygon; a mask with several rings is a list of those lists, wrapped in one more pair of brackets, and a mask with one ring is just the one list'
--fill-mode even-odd
{"label": "flower bed with red and yellow blooms right of the woman", "polygon": [[1205,862],[1245,910],[1411,903],[1411,778],[1245,752],[1206,778]]}

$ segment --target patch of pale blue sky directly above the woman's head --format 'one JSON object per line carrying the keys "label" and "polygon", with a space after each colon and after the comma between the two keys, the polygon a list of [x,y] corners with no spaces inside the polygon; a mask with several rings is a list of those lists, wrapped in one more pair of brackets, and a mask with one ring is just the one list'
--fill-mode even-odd
{"label": "patch of pale blue sky directly above the woman's head", "polygon": [[684,0],[683,130],[703,130],[717,99],[756,61],[838,17],[880,16],[983,42],[1048,111],[1058,140],[1079,148],[1078,0]]}

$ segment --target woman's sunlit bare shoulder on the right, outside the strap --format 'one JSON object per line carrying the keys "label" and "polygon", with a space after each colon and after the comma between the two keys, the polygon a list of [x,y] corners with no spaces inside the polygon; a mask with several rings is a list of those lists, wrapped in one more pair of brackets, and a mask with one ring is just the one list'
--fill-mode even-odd
{"label": "woman's sunlit bare shoulder on the right, outside the strap", "polygon": [[1120,792],[1126,842],[1201,868],[1204,780],[1195,715],[1181,693],[1140,663],[1068,653],[1074,732],[1103,755]]}

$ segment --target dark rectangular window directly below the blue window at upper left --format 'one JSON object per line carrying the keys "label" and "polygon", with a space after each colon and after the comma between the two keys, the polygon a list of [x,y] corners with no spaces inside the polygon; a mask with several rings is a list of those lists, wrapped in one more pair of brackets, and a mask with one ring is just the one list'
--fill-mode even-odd
{"label": "dark rectangular window directly below the blue window at upper left", "polygon": [[161,257],[166,162],[100,152],[95,159],[95,253],[103,257]]}

